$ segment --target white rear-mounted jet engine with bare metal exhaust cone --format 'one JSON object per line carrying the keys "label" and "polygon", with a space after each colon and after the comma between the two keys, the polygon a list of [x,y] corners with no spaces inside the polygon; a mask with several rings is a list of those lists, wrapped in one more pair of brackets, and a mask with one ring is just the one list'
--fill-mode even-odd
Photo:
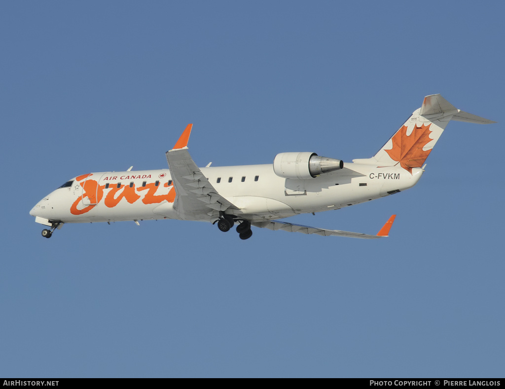
{"label": "white rear-mounted jet engine with bare metal exhaust cone", "polygon": [[274,158],[274,173],[282,178],[308,180],[343,167],[340,159],[320,157],[311,152],[280,153]]}

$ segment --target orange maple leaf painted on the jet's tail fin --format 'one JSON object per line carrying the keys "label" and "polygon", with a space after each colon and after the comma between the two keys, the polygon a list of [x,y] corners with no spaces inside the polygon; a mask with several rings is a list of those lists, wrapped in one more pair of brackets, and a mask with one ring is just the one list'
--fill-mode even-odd
{"label": "orange maple leaf painted on the jet's tail fin", "polygon": [[412,168],[421,168],[424,161],[431,152],[423,150],[432,139],[429,137],[431,124],[418,127],[414,125],[412,134],[407,135],[407,126],[402,126],[391,138],[393,147],[386,151],[389,156],[400,162],[400,166],[412,174]]}

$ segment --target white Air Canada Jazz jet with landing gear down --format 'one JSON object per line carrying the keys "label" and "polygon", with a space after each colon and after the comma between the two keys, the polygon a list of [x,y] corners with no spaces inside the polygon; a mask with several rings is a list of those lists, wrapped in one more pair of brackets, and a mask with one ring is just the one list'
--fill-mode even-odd
{"label": "white Air Canada Jazz jet with landing gear down", "polygon": [[421,108],[371,158],[342,160],[314,152],[283,152],[273,164],[198,168],[188,151],[192,124],[166,152],[169,169],[89,173],[74,177],[30,211],[50,227],[51,238],[67,223],[178,219],[207,221],[240,239],[251,227],[361,239],[389,235],[392,215],[376,235],[327,230],[279,221],[389,196],[417,184],[425,160],[449,121],[496,123],[466,113],[440,94],[426,96]]}

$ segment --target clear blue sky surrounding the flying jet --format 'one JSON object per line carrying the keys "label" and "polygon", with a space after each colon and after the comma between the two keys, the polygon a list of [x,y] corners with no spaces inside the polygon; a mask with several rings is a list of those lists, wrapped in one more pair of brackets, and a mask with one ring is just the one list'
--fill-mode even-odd
{"label": "clear blue sky surrounding the flying jet", "polygon": [[[500,2],[3,2],[0,376],[499,377],[505,362]],[[80,174],[285,151],[372,156],[441,93],[406,192],[293,223],[363,241],[28,214]]]}

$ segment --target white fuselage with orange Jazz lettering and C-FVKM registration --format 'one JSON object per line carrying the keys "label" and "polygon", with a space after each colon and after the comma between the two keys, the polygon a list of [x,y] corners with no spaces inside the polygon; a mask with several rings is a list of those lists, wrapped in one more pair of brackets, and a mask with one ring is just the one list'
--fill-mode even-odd
{"label": "white fuselage with orange Jazz lettering and C-FVKM registration", "polygon": [[[216,191],[249,221],[321,212],[374,200],[413,187],[423,170],[412,174],[399,165],[379,167],[345,163],[344,168],[307,180],[278,177],[272,164],[201,168]],[[70,181],[72,183],[70,184]],[[170,170],[93,173],[75,177],[39,201],[30,214],[62,223],[188,219],[181,216]]]}

